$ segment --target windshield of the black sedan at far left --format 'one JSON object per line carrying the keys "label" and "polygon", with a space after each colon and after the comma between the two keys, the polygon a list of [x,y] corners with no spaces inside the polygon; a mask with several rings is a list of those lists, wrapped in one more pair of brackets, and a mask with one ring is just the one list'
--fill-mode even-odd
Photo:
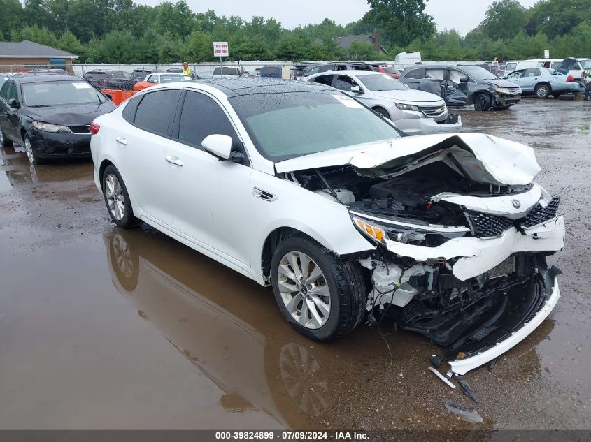
{"label": "windshield of the black sedan at far left", "polygon": [[87,82],[29,83],[22,85],[27,106],[59,106],[104,102],[97,89]]}

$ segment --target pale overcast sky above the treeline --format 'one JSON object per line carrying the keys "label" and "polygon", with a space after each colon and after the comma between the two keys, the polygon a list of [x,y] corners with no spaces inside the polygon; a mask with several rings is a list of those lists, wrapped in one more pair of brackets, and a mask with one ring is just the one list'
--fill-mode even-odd
{"label": "pale overcast sky above the treeline", "polygon": [[[151,6],[163,0],[136,0]],[[175,1],[175,0],[171,0]],[[239,15],[250,20],[253,15],[275,18],[283,27],[293,29],[299,24],[320,23],[326,17],[338,24],[355,22],[369,10],[366,0],[186,0],[194,12],[215,10],[218,15]],[[486,8],[493,0],[429,0],[427,13],[437,23],[437,29],[455,28],[461,35],[480,24]],[[537,0],[520,0],[529,8]]]}

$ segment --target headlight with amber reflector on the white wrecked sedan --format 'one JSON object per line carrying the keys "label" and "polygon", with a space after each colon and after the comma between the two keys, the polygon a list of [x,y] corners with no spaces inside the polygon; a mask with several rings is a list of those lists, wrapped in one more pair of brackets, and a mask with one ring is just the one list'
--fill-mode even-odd
{"label": "headlight with amber reflector on the white wrecked sedan", "polygon": [[411,244],[413,246],[436,247],[448,242],[452,238],[463,237],[467,229],[450,229],[446,233],[437,233],[429,230],[420,230],[406,226],[386,226],[376,223],[376,221],[359,218],[351,214],[351,219],[355,227],[365,236],[372,240],[384,243],[385,240],[401,242],[402,244]]}

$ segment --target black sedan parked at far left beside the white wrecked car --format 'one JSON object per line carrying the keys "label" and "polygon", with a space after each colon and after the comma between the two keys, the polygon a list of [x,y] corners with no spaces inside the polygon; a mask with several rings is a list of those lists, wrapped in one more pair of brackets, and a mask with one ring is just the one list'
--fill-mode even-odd
{"label": "black sedan parked at far left beside the white wrecked car", "polygon": [[0,89],[0,145],[21,143],[32,164],[90,156],[90,124],[115,105],[69,75],[9,78]]}

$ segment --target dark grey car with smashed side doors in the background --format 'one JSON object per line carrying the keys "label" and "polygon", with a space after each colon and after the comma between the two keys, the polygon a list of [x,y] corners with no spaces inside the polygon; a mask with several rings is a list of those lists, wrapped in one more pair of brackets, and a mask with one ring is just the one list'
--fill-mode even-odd
{"label": "dark grey car with smashed side doors in the background", "polygon": [[474,105],[474,110],[508,109],[519,103],[521,89],[480,66],[421,64],[406,68],[400,81],[412,89],[443,97],[448,106]]}

